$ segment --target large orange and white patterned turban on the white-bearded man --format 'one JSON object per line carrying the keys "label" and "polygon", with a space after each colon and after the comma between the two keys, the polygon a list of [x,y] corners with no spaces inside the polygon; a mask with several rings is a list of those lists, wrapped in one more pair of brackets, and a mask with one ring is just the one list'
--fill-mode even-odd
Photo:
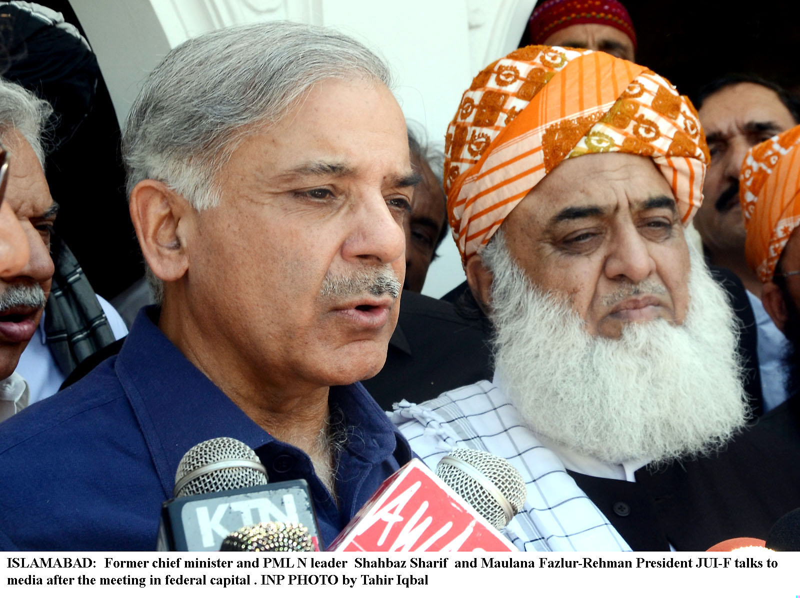
{"label": "large orange and white patterned turban on the white-bearded man", "polygon": [[450,227],[462,262],[562,160],[650,156],[684,225],[702,201],[708,146],[697,112],[665,78],[602,52],[528,46],[482,70],[445,138]]}

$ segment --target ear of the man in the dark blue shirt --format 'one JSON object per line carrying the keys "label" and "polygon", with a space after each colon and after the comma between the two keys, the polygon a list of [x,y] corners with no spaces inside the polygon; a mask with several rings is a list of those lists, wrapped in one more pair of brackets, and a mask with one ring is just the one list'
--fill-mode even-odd
{"label": "ear of the man in the dark blue shirt", "polygon": [[147,265],[162,281],[176,281],[189,269],[184,235],[194,209],[161,181],[139,181],[130,192],[130,219]]}

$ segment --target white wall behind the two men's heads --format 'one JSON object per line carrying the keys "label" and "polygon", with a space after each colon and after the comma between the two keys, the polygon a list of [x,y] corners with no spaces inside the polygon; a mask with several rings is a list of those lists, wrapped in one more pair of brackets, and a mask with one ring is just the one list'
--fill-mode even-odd
{"label": "white wall behind the two men's heads", "polygon": [[[406,118],[444,145],[447,123],[472,78],[516,47],[535,0],[71,0],[120,122],[142,79],[170,48],[219,27],[288,19],[331,26],[389,63]],[[440,297],[464,280],[447,237],[423,293]]]}

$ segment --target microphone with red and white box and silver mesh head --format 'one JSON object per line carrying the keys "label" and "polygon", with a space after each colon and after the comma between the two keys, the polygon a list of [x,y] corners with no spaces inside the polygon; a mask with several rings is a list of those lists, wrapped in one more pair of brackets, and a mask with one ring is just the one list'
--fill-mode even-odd
{"label": "microphone with red and white box and silver mesh head", "polygon": [[457,448],[434,475],[412,459],[387,478],[337,536],[336,552],[515,552],[498,529],[525,504],[525,482],[507,460]]}

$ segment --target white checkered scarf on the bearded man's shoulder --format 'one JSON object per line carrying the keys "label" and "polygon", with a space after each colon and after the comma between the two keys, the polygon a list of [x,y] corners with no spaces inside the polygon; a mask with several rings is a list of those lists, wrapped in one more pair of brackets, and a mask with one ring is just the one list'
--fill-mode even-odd
{"label": "white checkered scarf on the bearded man's shoulder", "polygon": [[464,386],[420,405],[401,401],[390,417],[430,468],[457,447],[491,452],[517,468],[528,496],[503,533],[520,550],[630,551],[558,456],[522,423],[496,382]]}

